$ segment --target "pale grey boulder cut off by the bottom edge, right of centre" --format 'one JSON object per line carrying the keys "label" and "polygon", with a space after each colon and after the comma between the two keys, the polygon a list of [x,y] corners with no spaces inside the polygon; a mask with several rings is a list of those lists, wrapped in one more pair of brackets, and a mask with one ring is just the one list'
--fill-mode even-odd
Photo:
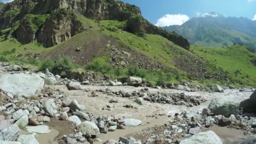
{"label": "pale grey boulder cut off by the bottom edge, right of centre", "polygon": [[222,144],[219,136],[213,131],[197,133],[188,139],[182,140],[179,144]]}

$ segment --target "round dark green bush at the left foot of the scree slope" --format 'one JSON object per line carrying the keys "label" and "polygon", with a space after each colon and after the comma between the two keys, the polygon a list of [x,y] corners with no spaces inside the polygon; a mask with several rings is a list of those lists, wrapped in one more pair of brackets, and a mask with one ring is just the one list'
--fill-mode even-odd
{"label": "round dark green bush at the left foot of the scree slope", "polygon": [[59,57],[53,67],[53,73],[58,75],[66,75],[67,72],[72,71],[75,68],[75,64],[67,57]]}

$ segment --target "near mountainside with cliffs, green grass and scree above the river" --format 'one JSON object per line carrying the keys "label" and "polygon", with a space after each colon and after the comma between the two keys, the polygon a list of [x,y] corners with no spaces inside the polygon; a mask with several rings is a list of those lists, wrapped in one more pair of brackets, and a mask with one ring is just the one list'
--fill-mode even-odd
{"label": "near mountainside with cliffs, green grass and scree above the river", "polygon": [[[188,80],[226,83],[226,79],[235,85],[256,83],[252,73],[243,80],[233,77],[232,70],[223,69],[225,65],[202,58],[195,53],[197,48],[190,47],[186,38],[144,19],[139,7],[118,0],[0,3],[0,61],[36,67],[44,64],[50,70],[51,64],[57,63],[61,66],[55,70],[60,70],[62,77],[68,75],[62,70],[75,64],[75,72],[139,76],[150,85]],[[256,70],[255,52],[241,47],[247,61],[237,60],[239,65],[249,63]]]}

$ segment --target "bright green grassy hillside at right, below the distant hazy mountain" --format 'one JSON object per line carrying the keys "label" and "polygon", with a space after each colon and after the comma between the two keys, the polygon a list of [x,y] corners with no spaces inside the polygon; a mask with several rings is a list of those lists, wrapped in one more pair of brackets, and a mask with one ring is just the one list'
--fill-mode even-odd
{"label": "bright green grassy hillside at right, below the distant hazy mountain", "polygon": [[201,59],[229,72],[232,80],[240,80],[246,85],[256,84],[256,67],[250,62],[251,59],[256,58],[256,53],[248,51],[245,45],[225,48],[204,48],[193,45],[191,51]]}

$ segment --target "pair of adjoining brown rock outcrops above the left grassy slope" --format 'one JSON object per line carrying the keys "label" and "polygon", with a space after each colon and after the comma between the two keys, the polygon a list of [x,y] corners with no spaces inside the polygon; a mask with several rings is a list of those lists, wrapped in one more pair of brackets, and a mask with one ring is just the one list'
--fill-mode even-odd
{"label": "pair of adjoining brown rock outcrops above the left grassy slope", "polygon": [[21,44],[37,41],[46,48],[57,45],[84,30],[74,13],[59,10],[51,16],[26,15],[14,33]]}

